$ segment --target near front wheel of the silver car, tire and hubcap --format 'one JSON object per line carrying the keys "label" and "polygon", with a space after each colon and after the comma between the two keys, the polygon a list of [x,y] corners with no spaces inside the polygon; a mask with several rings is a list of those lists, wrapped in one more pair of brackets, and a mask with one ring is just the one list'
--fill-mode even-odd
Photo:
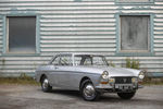
{"label": "near front wheel of the silver car, tire and hubcap", "polygon": [[86,80],[82,83],[80,94],[87,101],[98,100],[100,97],[100,93],[95,89],[93,84],[90,80]]}

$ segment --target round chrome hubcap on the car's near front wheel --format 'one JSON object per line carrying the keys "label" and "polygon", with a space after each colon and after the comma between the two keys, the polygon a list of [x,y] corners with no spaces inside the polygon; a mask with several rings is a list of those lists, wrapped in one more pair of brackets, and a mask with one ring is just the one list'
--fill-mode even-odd
{"label": "round chrome hubcap on the car's near front wheel", "polygon": [[84,88],[84,95],[86,97],[92,97],[95,96],[95,88],[91,84],[88,84],[85,88]]}

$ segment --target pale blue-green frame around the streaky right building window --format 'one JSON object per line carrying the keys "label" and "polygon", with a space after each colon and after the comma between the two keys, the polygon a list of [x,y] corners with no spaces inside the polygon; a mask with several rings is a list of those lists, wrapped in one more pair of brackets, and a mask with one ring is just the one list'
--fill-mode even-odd
{"label": "pale blue-green frame around the streaky right building window", "polygon": [[[148,50],[122,50],[121,49],[121,16],[149,16]],[[116,56],[153,56],[153,14],[116,14]]]}

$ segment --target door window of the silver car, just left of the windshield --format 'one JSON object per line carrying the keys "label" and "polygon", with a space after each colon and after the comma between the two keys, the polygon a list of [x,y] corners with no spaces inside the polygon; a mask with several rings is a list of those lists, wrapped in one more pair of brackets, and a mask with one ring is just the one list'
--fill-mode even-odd
{"label": "door window of the silver car, just left of the windshield", "polygon": [[71,56],[62,56],[60,60],[60,65],[73,65]]}

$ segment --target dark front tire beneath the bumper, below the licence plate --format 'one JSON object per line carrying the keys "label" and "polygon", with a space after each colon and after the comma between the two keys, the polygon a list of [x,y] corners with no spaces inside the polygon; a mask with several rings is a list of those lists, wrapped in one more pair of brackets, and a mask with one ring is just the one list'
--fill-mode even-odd
{"label": "dark front tire beneath the bumper, below the licence plate", "polygon": [[122,99],[131,99],[135,96],[136,92],[133,93],[117,93],[118,97]]}

